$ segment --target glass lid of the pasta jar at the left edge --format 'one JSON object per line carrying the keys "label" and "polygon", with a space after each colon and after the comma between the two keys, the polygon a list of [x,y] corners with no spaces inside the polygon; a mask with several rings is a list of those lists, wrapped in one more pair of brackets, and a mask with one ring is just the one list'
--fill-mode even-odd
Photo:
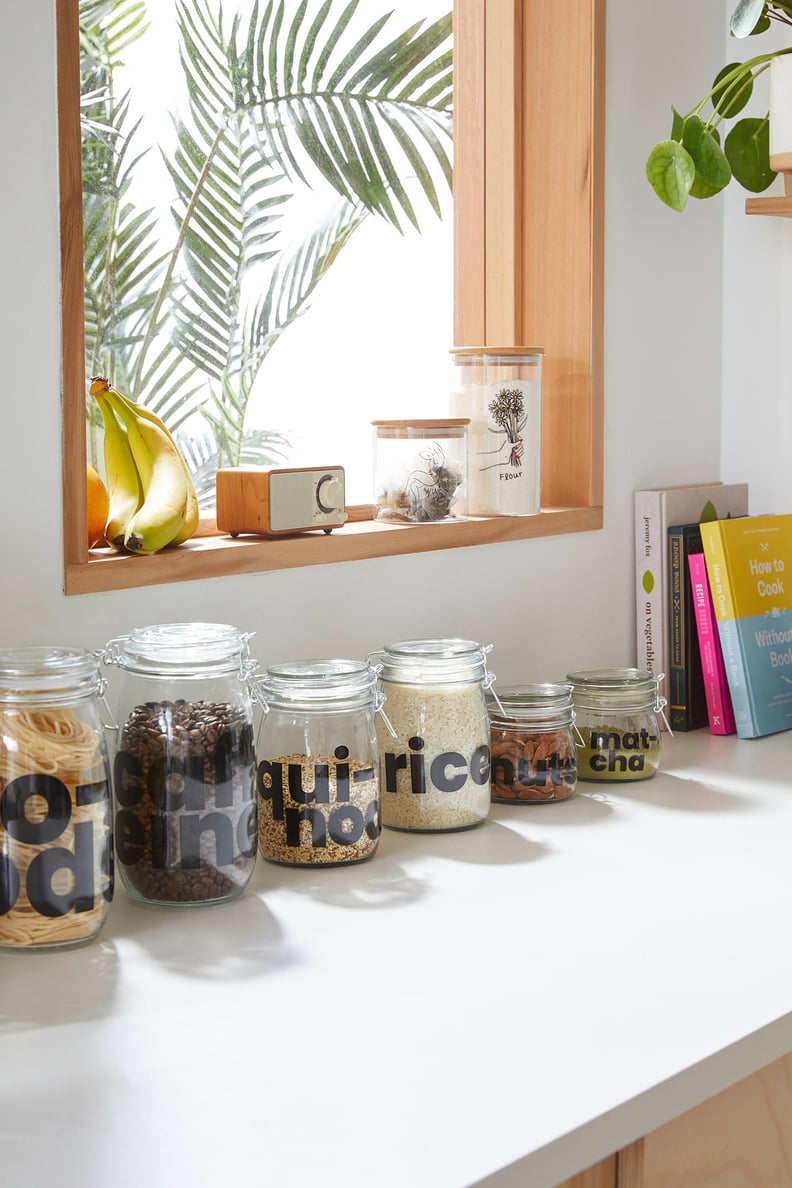
{"label": "glass lid of the pasta jar at the left edge", "polygon": [[81,647],[0,649],[0,702],[62,706],[103,691],[99,657]]}

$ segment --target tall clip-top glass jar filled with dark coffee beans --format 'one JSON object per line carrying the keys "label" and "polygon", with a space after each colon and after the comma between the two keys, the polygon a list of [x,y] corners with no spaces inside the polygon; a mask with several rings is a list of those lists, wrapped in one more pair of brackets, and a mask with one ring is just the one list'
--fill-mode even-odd
{"label": "tall clip-top glass jar filled with dark coffee beans", "polygon": [[115,849],[133,899],[192,908],[240,895],[255,862],[249,636],[216,623],[108,643],[123,680],[113,762]]}

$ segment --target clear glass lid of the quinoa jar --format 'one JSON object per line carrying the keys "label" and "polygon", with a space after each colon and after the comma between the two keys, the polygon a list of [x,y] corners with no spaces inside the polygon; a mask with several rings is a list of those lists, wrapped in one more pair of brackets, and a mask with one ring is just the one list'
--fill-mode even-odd
{"label": "clear glass lid of the quinoa jar", "polygon": [[366,661],[272,664],[255,682],[265,709],[351,709],[373,704],[376,672]]}

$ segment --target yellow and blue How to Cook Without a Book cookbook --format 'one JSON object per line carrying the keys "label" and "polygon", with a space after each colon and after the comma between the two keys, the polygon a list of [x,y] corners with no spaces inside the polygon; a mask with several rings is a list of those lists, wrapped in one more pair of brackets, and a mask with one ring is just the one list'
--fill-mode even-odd
{"label": "yellow and blue How to Cook Without a Book cookbook", "polygon": [[739,738],[792,728],[792,514],[701,525]]}

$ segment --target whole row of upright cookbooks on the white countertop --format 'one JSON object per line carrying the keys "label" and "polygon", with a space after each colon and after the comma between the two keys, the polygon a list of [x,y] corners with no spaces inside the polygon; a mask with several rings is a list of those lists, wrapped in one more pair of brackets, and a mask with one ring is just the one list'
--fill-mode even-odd
{"label": "whole row of upright cookbooks on the white countertop", "polygon": [[635,492],[635,590],[672,731],[792,728],[792,514],[749,516],[746,484]]}

